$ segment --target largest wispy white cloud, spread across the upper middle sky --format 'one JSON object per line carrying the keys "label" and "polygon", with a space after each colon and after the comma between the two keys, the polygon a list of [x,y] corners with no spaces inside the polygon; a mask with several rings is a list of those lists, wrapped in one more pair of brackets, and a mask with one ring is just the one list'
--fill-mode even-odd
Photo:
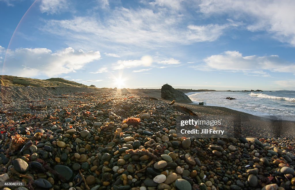
{"label": "largest wispy white cloud, spread across the upper middle sky", "polygon": [[41,30],[63,36],[70,45],[83,43],[90,46],[95,42],[96,45],[110,48],[111,42],[112,48],[119,46],[117,49],[130,50],[127,45],[155,48],[175,43],[212,42],[230,27],[240,25],[231,20],[225,21],[225,24],[193,25],[188,19],[192,15],[187,14],[187,11],[171,12],[170,9],[161,7],[117,7],[108,11],[103,19],[93,15],[76,16],[67,20],[47,20]]}

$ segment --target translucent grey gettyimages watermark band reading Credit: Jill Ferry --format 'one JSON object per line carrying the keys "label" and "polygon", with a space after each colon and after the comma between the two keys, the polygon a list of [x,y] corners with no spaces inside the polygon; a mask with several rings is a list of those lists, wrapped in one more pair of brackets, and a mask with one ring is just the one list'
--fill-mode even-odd
{"label": "translucent grey gettyimages watermark band reading Credit: Jill Ferry", "polygon": [[295,138],[294,115],[176,117],[176,133],[194,138]]}

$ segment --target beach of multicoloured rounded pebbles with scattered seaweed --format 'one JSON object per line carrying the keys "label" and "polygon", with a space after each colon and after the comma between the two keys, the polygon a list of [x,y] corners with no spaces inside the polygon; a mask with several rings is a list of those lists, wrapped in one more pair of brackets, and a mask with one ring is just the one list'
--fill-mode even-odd
{"label": "beach of multicoloured rounded pebbles with scattered seaweed", "polygon": [[6,190],[295,189],[294,138],[186,138],[187,113],[128,90],[1,87],[0,98],[0,181],[25,182]]}

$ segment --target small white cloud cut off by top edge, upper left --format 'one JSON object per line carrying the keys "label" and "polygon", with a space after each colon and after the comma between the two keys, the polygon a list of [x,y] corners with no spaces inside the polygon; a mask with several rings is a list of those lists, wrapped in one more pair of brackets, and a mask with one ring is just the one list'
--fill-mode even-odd
{"label": "small white cloud cut off by top edge, upper left", "polygon": [[67,0],[41,0],[40,11],[47,14],[58,14],[67,10],[68,6]]}

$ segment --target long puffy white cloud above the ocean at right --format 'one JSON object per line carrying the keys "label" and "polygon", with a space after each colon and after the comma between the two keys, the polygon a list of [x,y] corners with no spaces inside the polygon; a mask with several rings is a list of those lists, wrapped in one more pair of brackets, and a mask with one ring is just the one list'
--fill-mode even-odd
{"label": "long puffy white cloud above the ocean at right", "polygon": [[[278,55],[271,56],[242,56],[237,51],[227,51],[223,54],[212,55],[204,59],[205,69],[225,70],[225,71],[243,71],[260,76],[269,76],[263,70],[272,72],[291,72],[295,73],[295,63],[290,63],[279,58]],[[198,66],[197,66],[198,67]]]}

